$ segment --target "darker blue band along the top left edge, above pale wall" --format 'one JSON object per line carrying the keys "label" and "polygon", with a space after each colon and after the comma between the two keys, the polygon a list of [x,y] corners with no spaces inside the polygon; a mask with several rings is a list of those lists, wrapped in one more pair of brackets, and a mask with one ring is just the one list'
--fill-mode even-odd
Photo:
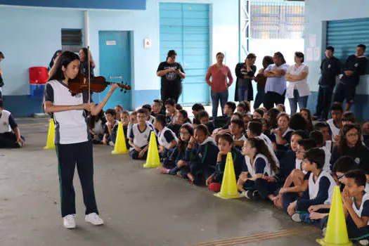
{"label": "darker blue band along the top left edge, above pale wall", "polygon": [[145,0],[0,0],[0,4],[57,8],[145,9]]}

